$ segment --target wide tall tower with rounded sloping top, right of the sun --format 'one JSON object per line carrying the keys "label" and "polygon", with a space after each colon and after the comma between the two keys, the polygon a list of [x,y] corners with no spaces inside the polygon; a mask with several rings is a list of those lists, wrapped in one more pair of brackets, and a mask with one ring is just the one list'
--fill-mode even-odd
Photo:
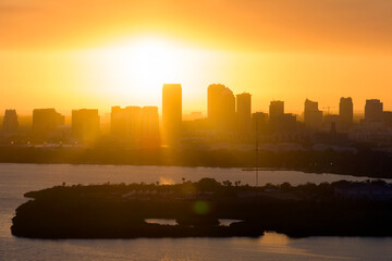
{"label": "wide tall tower with rounded sloping top, right of the sun", "polygon": [[233,91],[220,84],[208,86],[208,122],[219,132],[230,132],[234,127],[235,98]]}

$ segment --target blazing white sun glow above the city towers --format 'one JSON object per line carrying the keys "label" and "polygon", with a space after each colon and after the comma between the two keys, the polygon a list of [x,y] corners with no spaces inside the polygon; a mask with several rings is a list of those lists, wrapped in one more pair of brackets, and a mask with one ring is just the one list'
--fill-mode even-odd
{"label": "blazing white sun glow above the city towers", "polygon": [[164,83],[180,83],[185,50],[160,38],[133,39],[98,51],[106,91],[120,97],[157,100]]}

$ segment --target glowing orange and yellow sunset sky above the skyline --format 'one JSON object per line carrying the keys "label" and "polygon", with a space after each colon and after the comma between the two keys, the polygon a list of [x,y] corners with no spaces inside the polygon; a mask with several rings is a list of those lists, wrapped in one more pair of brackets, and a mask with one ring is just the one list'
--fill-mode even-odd
{"label": "glowing orange and yellow sunset sky above the skyline", "polygon": [[207,86],[253,95],[253,109],[341,96],[392,110],[389,0],[2,0],[1,114],[16,108],[159,105],[181,83],[184,111],[206,111]]}

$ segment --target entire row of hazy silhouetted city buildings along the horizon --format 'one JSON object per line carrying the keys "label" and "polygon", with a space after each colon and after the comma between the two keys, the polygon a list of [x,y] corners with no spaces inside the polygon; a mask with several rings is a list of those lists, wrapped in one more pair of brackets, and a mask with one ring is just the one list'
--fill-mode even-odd
{"label": "entire row of hazy silhouetted city buildings along the horizon", "polygon": [[[248,139],[254,134],[261,135],[305,135],[309,133],[330,133],[330,138],[335,139],[338,132],[362,138],[362,135],[376,135],[379,132],[389,134],[391,130],[392,112],[383,110],[383,102],[379,99],[367,99],[362,119],[354,117],[353,99],[341,97],[339,102],[339,114],[331,114],[330,108],[327,113],[319,109],[318,101],[306,99],[304,102],[303,116],[297,117],[284,110],[284,101],[270,101],[268,113],[252,111],[252,95],[248,92],[236,94],[221,84],[211,84],[207,88],[208,108],[207,116],[201,113],[193,120],[193,125],[184,127],[183,101],[181,84],[163,84],[162,86],[162,114],[159,114],[155,105],[119,105],[111,108],[109,133],[118,140],[131,141],[133,145],[158,145],[179,146],[185,138],[198,133],[198,136],[215,135],[238,135],[240,139]],[[108,124],[108,120],[103,124]],[[77,142],[94,144],[101,136],[101,116],[98,109],[72,110],[71,132],[64,126],[65,115],[59,113],[54,108],[34,109],[30,132],[26,121],[20,124],[16,110],[5,110],[2,121],[2,135],[5,140],[13,142],[13,137],[22,133],[29,133],[29,138],[38,142],[46,140],[72,140]],[[301,123],[302,124],[298,124]],[[186,124],[185,124],[186,125]],[[27,127],[27,129],[26,129]],[[187,129],[187,130],[185,130]],[[26,132],[27,130],[27,132]],[[358,132],[359,130],[359,132]],[[108,129],[103,132],[108,133]],[[71,134],[71,135],[70,135]],[[201,134],[201,136],[200,136]],[[359,134],[359,136],[358,136]],[[353,136],[354,135],[354,136]],[[28,137],[26,136],[26,137]],[[197,136],[197,135],[196,135]],[[68,138],[66,138],[68,137]],[[229,137],[229,136],[228,136]],[[272,136],[270,136],[272,137]],[[344,138],[343,138],[344,139]],[[342,140],[343,140],[342,139]],[[341,140],[341,141],[342,141]],[[26,140],[27,142],[28,139]],[[62,142],[62,141],[61,141]]]}

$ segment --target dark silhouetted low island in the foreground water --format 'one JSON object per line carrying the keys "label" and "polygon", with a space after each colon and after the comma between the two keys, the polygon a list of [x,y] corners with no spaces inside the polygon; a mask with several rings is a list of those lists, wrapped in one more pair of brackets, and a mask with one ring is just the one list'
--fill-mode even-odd
{"label": "dark silhouetted low island in the foreground water", "polygon": [[16,209],[11,232],[28,238],[258,237],[266,231],[291,237],[392,236],[392,185],[382,181],[295,187],[213,178],[63,184],[24,196],[33,200]]}

